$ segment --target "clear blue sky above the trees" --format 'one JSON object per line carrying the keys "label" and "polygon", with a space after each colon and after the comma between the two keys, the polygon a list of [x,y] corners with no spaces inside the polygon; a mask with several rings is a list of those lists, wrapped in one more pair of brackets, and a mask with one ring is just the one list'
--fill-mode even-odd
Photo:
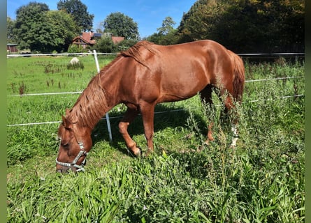
{"label": "clear blue sky above the trees", "polygon": [[[57,10],[59,0],[32,0],[46,3],[50,10]],[[8,0],[6,2],[7,15],[15,20],[16,10],[20,6],[25,6],[28,0]],[[170,16],[176,22],[177,28],[182,19],[183,13],[187,13],[196,0],[81,0],[87,6],[87,12],[94,15],[93,28],[103,29],[100,23],[106,19],[110,13],[124,13],[138,24],[138,32],[141,38],[152,35],[161,27],[163,20]]]}

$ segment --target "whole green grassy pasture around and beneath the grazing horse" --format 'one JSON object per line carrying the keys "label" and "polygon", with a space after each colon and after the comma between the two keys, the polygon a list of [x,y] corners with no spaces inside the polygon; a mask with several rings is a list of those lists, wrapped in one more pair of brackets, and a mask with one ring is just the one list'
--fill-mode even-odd
{"label": "whole green grassy pasture around and beneath the grazing horse", "polygon": [[[78,93],[96,75],[93,56],[80,56],[83,69],[70,70],[69,56],[7,60],[7,222],[304,222],[304,66],[280,59],[245,63],[239,139],[222,123],[221,101],[203,107],[198,96],[161,104],[154,116],[154,149],[134,158],[117,123],[124,112],[110,111],[92,133],[86,172],[55,173],[59,123]],[[104,66],[113,58],[100,56]],[[280,77],[299,77],[273,79]],[[15,95],[15,96],[12,96]],[[282,98],[283,96],[291,96]],[[206,115],[207,114],[207,115]],[[214,137],[203,144],[207,122]],[[129,133],[146,151],[140,116]]]}

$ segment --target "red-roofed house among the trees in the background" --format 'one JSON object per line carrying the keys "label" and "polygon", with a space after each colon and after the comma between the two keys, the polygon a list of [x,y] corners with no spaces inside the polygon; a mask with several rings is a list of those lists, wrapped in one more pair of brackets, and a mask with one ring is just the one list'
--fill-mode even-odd
{"label": "red-roofed house among the trees in the background", "polygon": [[[89,47],[92,47],[94,44],[96,44],[96,40],[100,39],[103,34],[101,33],[94,33],[92,31],[84,32],[82,33],[82,36],[76,36],[72,40],[72,44],[78,45],[79,47],[82,47],[83,49]],[[113,40],[113,43],[120,43],[122,40],[124,40],[124,37],[120,36],[112,36],[112,35],[106,35],[110,36]]]}

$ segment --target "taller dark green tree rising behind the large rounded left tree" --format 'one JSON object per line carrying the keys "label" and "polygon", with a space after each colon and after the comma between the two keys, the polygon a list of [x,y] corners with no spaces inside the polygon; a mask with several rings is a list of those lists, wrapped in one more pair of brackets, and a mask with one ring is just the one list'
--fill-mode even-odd
{"label": "taller dark green tree rising behind the large rounded left tree", "polygon": [[87,12],[87,6],[80,0],[61,0],[57,3],[57,9],[70,14],[81,31],[92,29],[94,15]]}

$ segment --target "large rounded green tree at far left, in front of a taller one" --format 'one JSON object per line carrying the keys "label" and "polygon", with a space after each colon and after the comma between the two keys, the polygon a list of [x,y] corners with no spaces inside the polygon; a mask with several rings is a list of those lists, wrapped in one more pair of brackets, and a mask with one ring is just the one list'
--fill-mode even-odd
{"label": "large rounded green tree at far left, in front of a taller one", "polygon": [[13,30],[20,48],[32,52],[62,52],[79,33],[71,15],[36,2],[17,9]]}

